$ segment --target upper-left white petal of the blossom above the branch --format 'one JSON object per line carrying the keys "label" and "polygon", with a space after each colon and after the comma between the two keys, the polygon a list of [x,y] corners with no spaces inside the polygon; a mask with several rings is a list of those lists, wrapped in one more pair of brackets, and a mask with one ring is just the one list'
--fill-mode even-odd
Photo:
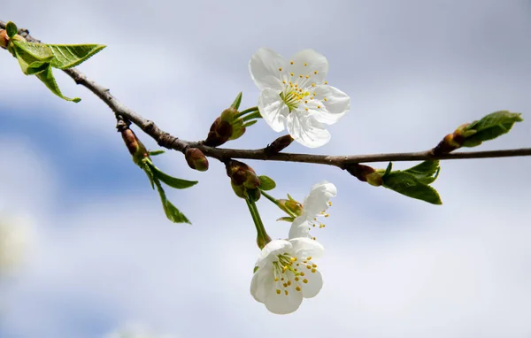
{"label": "upper-left white petal of the blossom above the branch", "polygon": [[282,90],[282,74],[286,73],[286,60],[273,50],[259,49],[249,61],[250,77],[260,90]]}

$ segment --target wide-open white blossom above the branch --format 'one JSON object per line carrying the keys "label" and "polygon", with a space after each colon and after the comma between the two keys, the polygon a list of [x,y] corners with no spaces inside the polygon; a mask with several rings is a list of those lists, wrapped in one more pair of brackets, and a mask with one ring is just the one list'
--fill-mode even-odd
{"label": "wide-open white blossom above the branch", "polygon": [[273,50],[259,49],[249,63],[261,90],[258,110],[276,132],[285,127],[296,142],[316,148],[330,141],[326,125],[350,110],[350,97],[328,86],[328,61],[315,50],[301,50],[287,61]]}

